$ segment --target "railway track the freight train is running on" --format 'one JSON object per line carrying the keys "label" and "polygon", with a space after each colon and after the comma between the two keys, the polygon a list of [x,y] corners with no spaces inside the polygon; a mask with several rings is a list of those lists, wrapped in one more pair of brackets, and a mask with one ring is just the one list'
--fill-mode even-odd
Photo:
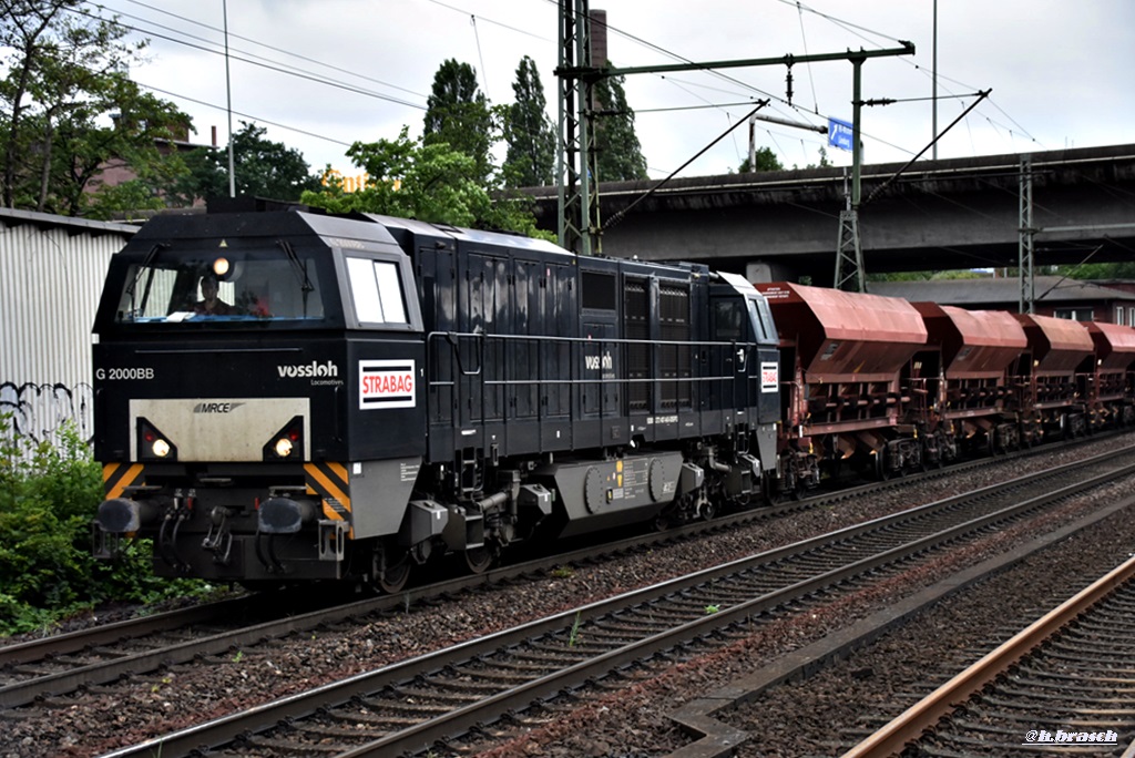
{"label": "railway track the freight train is running on", "polygon": [[[976,469],[989,463],[989,458],[982,458],[953,466],[947,473]],[[1069,466],[1069,470],[1078,465]],[[925,478],[939,475],[944,474],[939,471],[916,474]],[[267,640],[308,632],[328,624],[362,623],[368,617],[381,616],[398,608],[406,609],[413,604],[452,597],[489,583],[522,580],[524,576],[573,563],[649,550],[675,540],[695,539],[721,530],[789,516],[808,508],[827,507],[850,498],[868,497],[884,489],[901,487],[916,477],[824,492],[806,500],[636,536],[598,548],[579,548],[524,561],[481,575],[417,587],[398,596],[351,601],[338,598],[331,607],[327,607],[326,596],[310,593],[239,597],[8,646],[0,648],[0,708],[25,706],[37,699],[58,697],[171,664],[246,649]],[[193,632],[186,633],[184,630],[187,629]]]}

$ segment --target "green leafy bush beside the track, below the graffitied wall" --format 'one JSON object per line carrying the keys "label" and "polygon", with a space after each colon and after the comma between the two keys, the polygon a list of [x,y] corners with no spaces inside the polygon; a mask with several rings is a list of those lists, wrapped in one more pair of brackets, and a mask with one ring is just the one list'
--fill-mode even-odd
{"label": "green leafy bush beside the track, below the graffitied wall", "polygon": [[0,634],[47,629],[100,603],[208,589],[155,578],[146,541],[132,544],[124,561],[94,561],[90,523],[100,500],[101,468],[74,427],[54,445],[33,445],[0,415]]}

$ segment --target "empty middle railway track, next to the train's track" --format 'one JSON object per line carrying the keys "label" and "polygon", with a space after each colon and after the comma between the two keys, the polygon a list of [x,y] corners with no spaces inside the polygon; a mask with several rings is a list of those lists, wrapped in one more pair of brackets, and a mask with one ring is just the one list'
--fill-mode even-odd
{"label": "empty middle railway track, next to the train's track", "polygon": [[[1129,450],[1023,478],[629,592],[110,753],[421,751],[684,645],[900,573],[1135,471]],[[1075,483],[1073,483],[1075,481]],[[1057,487],[1059,482],[1060,487]],[[716,640],[716,641],[715,641]],[[279,726],[285,724],[284,726]]]}

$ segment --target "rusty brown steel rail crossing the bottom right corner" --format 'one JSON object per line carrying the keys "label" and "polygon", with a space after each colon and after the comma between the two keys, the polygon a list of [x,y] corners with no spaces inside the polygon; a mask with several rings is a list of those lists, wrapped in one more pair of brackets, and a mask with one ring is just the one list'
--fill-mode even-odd
{"label": "rusty brown steel rail crossing the bottom right corner", "polygon": [[949,682],[907,708],[897,718],[843,753],[842,758],[881,758],[898,755],[959,704],[1007,672],[1014,664],[1052,638],[1077,616],[1135,576],[1135,557],[1108,572],[1062,604],[1037,618],[995,650]]}

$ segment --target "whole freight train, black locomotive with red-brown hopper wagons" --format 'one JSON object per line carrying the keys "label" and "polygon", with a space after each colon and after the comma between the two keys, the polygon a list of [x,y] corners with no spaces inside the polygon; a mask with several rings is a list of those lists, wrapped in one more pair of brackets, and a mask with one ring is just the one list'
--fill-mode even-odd
{"label": "whole freight train, black locomotive with red-brown hopper wagons", "polygon": [[95,317],[95,555],[394,592],[842,468],[1135,420],[1135,330],[301,208],[160,216]]}

